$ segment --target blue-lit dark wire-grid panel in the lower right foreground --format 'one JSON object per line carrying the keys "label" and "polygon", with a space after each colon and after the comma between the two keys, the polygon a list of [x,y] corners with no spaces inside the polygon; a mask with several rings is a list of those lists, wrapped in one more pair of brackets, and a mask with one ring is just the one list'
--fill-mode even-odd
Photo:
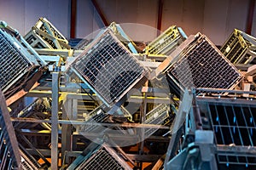
{"label": "blue-lit dark wire-grid panel in the lower right foreground", "polygon": [[[240,100],[240,101],[239,101]],[[254,101],[243,102],[237,99],[198,100],[201,116],[206,117],[214,132],[217,145],[219,168],[247,169],[256,165],[256,105]]]}

